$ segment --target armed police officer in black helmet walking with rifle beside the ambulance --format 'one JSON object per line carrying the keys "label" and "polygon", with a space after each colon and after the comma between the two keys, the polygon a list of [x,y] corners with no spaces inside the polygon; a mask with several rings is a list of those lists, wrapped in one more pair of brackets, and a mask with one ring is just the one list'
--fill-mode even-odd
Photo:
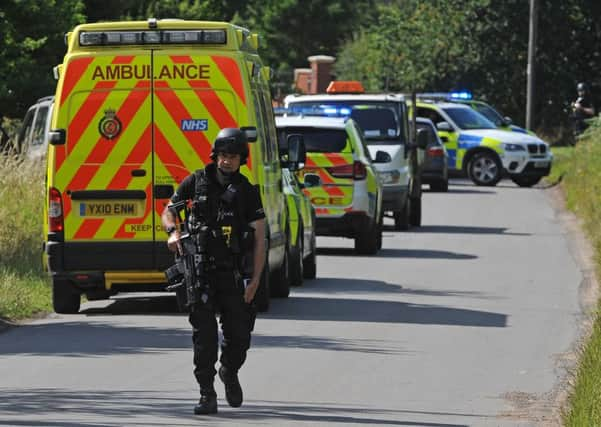
{"label": "armed police officer in black helmet walking with rifle beside the ambulance", "polygon": [[202,260],[199,274],[204,278],[196,278],[198,293],[189,315],[194,375],[200,386],[195,414],[217,412],[213,387],[217,373],[217,312],[223,332],[219,377],[228,404],[232,407],[242,404],[238,370],[250,347],[255,316],[253,298],[266,256],[261,198],[257,188],[240,173],[240,165],[246,163],[247,157],[246,133],[236,128],[222,129],[211,152],[213,162],[181,182],[162,214],[163,226],[169,234],[169,249],[180,255],[185,251],[185,236],[172,207],[192,201],[191,207],[188,205],[191,212],[187,225],[203,230],[202,237],[197,239],[202,244],[196,246],[196,257],[192,259]]}

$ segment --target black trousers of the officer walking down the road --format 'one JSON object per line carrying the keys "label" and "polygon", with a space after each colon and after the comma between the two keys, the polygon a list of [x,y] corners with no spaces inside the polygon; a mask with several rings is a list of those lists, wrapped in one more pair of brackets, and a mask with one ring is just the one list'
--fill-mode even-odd
{"label": "black trousers of the officer walking down the road", "polygon": [[254,322],[252,307],[244,302],[242,284],[232,272],[216,273],[213,280],[215,301],[210,306],[200,304],[189,316],[194,345],[194,376],[201,388],[212,388],[217,362],[218,331],[216,311],[223,332],[220,362],[230,372],[238,372],[250,347],[250,332]]}

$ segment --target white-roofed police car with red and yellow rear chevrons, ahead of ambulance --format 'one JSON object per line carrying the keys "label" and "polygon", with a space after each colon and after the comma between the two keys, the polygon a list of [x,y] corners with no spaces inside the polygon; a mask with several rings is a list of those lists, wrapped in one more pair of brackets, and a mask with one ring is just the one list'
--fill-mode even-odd
{"label": "white-roofed police car with red and yellow rear chevrons, ahead of ambulance", "polygon": [[[299,175],[315,208],[317,235],[349,237],[357,253],[375,254],[382,246],[382,187],[355,121],[287,116],[276,117],[276,127],[280,141],[304,138],[307,156]],[[320,185],[306,185],[307,174],[318,175]]]}

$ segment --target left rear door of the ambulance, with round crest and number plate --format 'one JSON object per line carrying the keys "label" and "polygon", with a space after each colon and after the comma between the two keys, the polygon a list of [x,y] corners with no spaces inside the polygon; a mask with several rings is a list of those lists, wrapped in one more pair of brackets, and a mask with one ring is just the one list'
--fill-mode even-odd
{"label": "left rear door of the ambulance, with round crest and number plate", "polygon": [[115,52],[79,52],[65,64],[55,108],[66,143],[56,148],[54,185],[65,195],[65,241],[105,249],[101,260],[90,259],[94,267],[149,268],[154,225],[150,54]]}

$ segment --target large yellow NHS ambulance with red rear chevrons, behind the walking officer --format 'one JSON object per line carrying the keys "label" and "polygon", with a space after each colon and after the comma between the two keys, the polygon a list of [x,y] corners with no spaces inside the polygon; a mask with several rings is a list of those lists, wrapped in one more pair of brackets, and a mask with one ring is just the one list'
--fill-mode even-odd
{"label": "large yellow NHS ambulance with red rear chevrons, behind the walking officer", "polygon": [[[66,35],[48,148],[45,254],[58,313],[80,296],[164,290],[160,215],[210,162],[220,129],[245,127],[242,173],[259,186],[268,257],[256,301],[287,295],[286,206],[258,36],[225,22],[96,23]],[[271,291],[270,291],[271,288]]]}

